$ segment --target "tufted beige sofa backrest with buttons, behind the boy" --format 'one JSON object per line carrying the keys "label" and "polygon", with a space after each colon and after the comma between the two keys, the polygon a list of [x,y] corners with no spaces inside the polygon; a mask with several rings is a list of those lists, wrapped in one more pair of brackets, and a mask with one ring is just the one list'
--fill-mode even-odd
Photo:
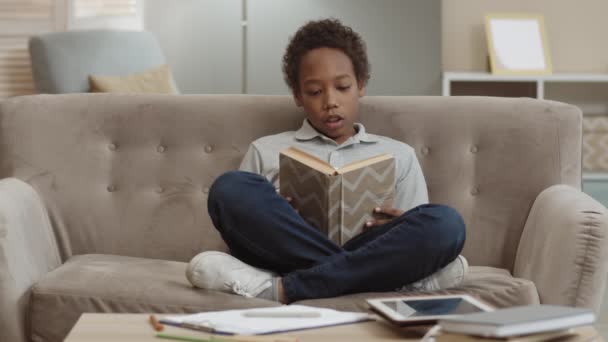
{"label": "tufted beige sofa backrest with buttons, behind the boy", "polygon": [[[299,127],[287,96],[35,95],[0,105],[0,177],[32,184],[65,259],[107,253],[189,260],[225,250],[207,216],[213,180],[254,139]],[[369,132],[417,152],[432,202],[458,209],[464,254],[511,269],[536,196],[580,188],[581,113],[483,97],[366,97]]]}

